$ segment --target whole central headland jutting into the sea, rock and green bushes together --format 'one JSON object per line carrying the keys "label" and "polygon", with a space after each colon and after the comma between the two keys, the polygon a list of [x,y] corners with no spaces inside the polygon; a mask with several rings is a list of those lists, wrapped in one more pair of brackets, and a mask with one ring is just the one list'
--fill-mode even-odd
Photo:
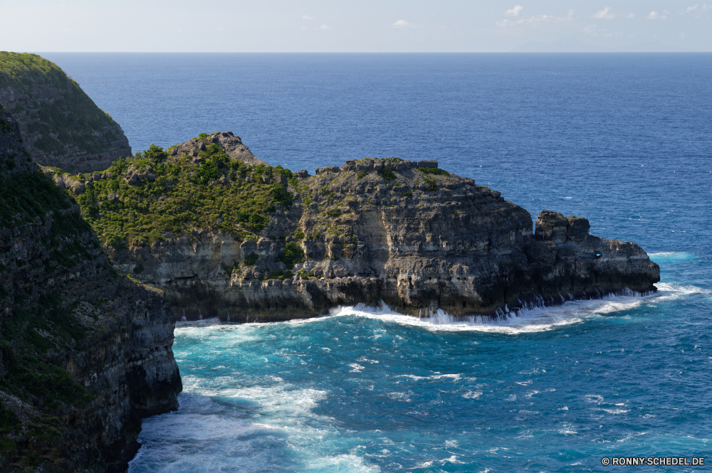
{"label": "whole central headland jutting into the sea, rock and green bushes together", "polygon": [[[659,281],[639,245],[548,211],[533,233],[525,209],[436,161],[367,158],[309,176],[231,159],[213,135],[204,144],[201,158],[181,154],[187,144],[146,152],[90,176],[79,196],[111,260],[163,289],[177,319],[283,320],[380,301],[496,316]],[[150,178],[133,179],[147,166]]]}

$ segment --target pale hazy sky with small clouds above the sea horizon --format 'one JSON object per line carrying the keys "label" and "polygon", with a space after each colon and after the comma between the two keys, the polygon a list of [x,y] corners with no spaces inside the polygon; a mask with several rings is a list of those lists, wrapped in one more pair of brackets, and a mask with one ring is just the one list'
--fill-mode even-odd
{"label": "pale hazy sky with small clouds above the sea horizon", "polygon": [[712,51],[712,0],[0,0],[0,51]]}

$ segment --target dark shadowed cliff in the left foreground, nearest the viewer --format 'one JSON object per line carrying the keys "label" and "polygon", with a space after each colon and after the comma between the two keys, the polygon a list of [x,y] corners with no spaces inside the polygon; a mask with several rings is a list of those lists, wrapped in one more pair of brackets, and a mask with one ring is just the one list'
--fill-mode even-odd
{"label": "dark shadowed cliff in the left foreground, nearest the viewer", "polygon": [[141,418],[177,408],[172,312],[110,265],[0,109],[0,471],[122,471]]}

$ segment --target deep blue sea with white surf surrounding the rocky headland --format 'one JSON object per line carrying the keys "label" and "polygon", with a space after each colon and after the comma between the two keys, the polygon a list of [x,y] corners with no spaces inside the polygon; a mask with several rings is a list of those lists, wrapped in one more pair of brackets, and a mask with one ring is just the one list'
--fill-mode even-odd
{"label": "deep blue sea with white surf surrounding the rocky headland", "polygon": [[560,211],[634,240],[661,267],[651,297],[492,323],[387,307],[179,323],[181,407],[144,421],[130,472],[712,464],[712,54],[43,55],[134,151],[231,130],[293,170],[438,159],[533,218]]}

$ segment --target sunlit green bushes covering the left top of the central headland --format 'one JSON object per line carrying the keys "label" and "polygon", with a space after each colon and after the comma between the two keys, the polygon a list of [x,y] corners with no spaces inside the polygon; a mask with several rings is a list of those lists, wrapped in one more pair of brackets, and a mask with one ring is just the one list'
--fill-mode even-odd
{"label": "sunlit green bushes covering the left top of the central headland", "polygon": [[[195,228],[242,236],[259,233],[277,205],[293,202],[285,184],[273,184],[291,176],[289,169],[246,166],[214,143],[199,157],[201,163],[189,156],[169,159],[161,147],[152,145],[132,159],[114,161],[107,179],[94,181],[77,197],[83,216],[105,244],[121,249],[190,234]],[[134,172],[150,173],[153,180],[129,185],[125,178]],[[271,184],[263,184],[265,175],[271,176]],[[221,178],[225,184],[218,182]],[[111,193],[117,196],[113,201]]]}

